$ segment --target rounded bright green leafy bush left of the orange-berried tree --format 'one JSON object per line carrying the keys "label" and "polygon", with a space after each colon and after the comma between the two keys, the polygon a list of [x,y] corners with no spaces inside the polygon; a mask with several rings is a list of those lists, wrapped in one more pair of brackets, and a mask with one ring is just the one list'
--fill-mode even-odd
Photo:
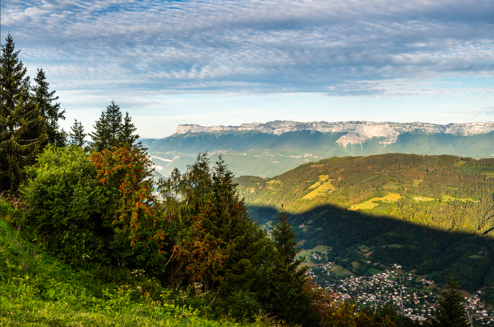
{"label": "rounded bright green leafy bush left of the orange-berried tree", "polygon": [[33,240],[73,267],[105,262],[108,232],[101,225],[107,200],[84,150],[48,145],[27,174],[21,194],[30,207],[25,217]]}

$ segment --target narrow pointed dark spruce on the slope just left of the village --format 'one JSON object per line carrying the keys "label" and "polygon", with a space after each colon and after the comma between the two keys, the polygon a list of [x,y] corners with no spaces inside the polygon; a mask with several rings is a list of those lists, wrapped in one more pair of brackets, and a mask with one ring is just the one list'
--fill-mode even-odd
{"label": "narrow pointed dark spruce on the slope just left of the village", "polygon": [[279,222],[274,224],[272,237],[275,243],[273,273],[270,279],[269,299],[263,307],[287,322],[300,322],[311,304],[305,291],[308,277],[307,267],[298,268],[303,259],[295,259],[300,251],[295,242],[292,224],[288,222],[285,207],[282,205]]}

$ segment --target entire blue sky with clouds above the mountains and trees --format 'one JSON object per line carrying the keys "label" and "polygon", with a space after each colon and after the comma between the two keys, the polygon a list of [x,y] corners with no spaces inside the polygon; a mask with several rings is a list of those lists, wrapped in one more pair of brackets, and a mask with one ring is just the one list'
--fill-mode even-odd
{"label": "entire blue sky with clouds above the mountains and trees", "polygon": [[494,1],[2,0],[67,130],[112,100],[141,137],[179,123],[494,121]]}

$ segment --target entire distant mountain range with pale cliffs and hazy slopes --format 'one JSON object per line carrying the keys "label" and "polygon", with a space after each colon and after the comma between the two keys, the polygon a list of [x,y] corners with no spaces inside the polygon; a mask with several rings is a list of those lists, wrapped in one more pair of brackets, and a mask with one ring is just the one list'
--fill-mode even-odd
{"label": "entire distant mountain range with pale cliffs and hazy slopes", "polygon": [[[272,177],[322,158],[384,153],[494,157],[494,122],[373,123],[273,121],[240,126],[179,124],[162,139],[141,138],[156,170],[180,171],[199,152],[222,155],[237,176]],[[216,155],[216,156],[214,156]]]}

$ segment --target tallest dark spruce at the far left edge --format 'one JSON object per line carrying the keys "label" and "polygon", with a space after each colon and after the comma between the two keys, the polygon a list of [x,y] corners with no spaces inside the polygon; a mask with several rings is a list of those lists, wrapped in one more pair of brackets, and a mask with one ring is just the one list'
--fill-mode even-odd
{"label": "tallest dark spruce at the far left edge", "polygon": [[14,51],[9,34],[1,45],[0,176],[2,189],[13,192],[24,177],[24,166],[34,163],[48,138],[43,117],[29,94],[27,69]]}

